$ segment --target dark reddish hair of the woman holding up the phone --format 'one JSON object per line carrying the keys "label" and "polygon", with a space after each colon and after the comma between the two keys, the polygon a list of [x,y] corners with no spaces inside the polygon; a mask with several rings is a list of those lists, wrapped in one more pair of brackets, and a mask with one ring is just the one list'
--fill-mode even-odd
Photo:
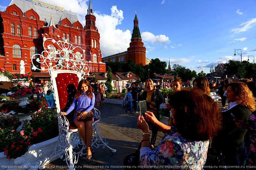
{"label": "dark reddish hair of the woman holding up the phone", "polygon": [[198,89],[181,90],[168,96],[178,132],[191,141],[206,141],[221,128],[221,114],[212,98]]}

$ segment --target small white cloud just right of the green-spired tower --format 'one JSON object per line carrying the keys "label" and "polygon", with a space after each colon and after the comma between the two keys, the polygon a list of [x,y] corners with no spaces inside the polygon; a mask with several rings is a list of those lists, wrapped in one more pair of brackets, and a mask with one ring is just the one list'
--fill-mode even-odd
{"label": "small white cloud just right of the green-spired tower", "polygon": [[143,41],[151,41],[152,44],[169,44],[171,42],[165,35],[154,35],[150,32],[141,33],[141,38]]}

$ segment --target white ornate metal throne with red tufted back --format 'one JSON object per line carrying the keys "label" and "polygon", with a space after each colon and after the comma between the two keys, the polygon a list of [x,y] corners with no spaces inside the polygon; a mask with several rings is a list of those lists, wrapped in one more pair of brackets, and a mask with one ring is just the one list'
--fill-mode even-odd
{"label": "white ornate metal throne with red tufted back", "polygon": [[[52,155],[45,159],[40,166],[43,167],[50,163],[52,161],[51,158],[56,155],[59,155],[60,158],[63,158],[64,155],[69,169],[73,170],[74,164],[78,162],[78,157],[86,154],[85,144],[79,136],[77,127],[74,124],[70,125],[65,116],[60,116],[60,111],[66,111],[73,102],[76,87],[79,81],[89,74],[89,66],[85,62],[85,51],[80,47],[73,46],[68,40],[55,41],[52,38],[44,37],[43,46],[44,51],[42,54],[33,55],[33,57],[40,56],[36,59],[36,64],[33,63],[33,57],[31,57],[32,69],[48,70],[51,76],[52,92],[54,93],[58,114],[59,137]],[[74,54],[73,52],[76,51],[82,53]],[[41,65],[40,68],[36,67],[38,63]],[[98,124],[100,121],[100,111],[96,108],[93,108],[92,111],[94,112],[92,146],[96,148],[100,145],[103,148],[107,146],[112,152],[116,152],[115,149],[107,145],[105,137],[102,137],[100,125]],[[73,150],[75,148],[79,149],[76,149],[75,152]]]}

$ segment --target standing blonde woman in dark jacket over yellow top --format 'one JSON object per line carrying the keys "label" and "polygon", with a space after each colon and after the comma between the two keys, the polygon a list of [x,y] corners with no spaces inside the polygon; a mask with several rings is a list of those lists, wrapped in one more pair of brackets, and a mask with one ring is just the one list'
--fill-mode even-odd
{"label": "standing blonde woman in dark jacket over yellow top", "polygon": [[[160,105],[164,103],[164,97],[158,89],[154,89],[154,84],[151,79],[146,80],[145,90],[146,91],[142,93],[142,100],[147,101],[147,110],[150,112],[153,112],[156,115],[157,120],[159,120],[159,109],[160,109]],[[153,148],[156,143],[158,128],[156,127],[156,125],[154,125],[150,121],[146,121],[146,122],[148,123],[149,129],[151,126],[152,137],[151,137],[150,144]]]}

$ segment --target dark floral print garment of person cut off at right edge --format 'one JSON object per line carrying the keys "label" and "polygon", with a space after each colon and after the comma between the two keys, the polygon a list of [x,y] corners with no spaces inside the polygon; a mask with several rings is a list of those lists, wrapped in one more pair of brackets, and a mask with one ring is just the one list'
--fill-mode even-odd
{"label": "dark floral print garment of person cut off at right edge", "polygon": [[[255,114],[254,112],[253,114]],[[256,117],[255,115],[250,115],[248,118],[250,133],[250,147],[249,154],[247,155],[247,159],[245,160],[246,169],[252,169],[252,167],[256,166]]]}

